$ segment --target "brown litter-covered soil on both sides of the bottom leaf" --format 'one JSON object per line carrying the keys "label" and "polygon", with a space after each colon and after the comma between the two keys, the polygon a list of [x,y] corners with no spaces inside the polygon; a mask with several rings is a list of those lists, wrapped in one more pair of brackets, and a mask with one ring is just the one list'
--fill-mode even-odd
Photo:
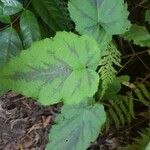
{"label": "brown litter-covered soil on both sides of the bottom leaf", "polygon": [[[44,107],[12,92],[0,98],[0,150],[44,150],[48,132],[61,104]],[[116,150],[131,142],[136,131],[148,122],[141,115],[120,130],[113,126],[99,135],[88,150]]]}

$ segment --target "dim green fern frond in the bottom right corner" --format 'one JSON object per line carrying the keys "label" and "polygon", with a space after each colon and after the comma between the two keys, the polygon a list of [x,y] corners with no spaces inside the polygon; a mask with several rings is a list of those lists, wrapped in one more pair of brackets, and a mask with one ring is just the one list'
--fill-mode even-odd
{"label": "dim green fern frond in the bottom right corner", "polygon": [[124,150],[145,150],[146,146],[150,142],[150,127],[145,128],[139,132],[139,137],[134,139],[134,142]]}

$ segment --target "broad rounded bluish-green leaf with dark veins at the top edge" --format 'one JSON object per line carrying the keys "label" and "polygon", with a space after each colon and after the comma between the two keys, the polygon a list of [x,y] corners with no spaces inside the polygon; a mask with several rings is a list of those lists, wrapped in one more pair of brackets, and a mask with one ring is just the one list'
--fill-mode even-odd
{"label": "broad rounded bluish-green leaf with dark veins at the top edge", "polygon": [[121,34],[130,27],[123,0],[70,0],[69,12],[76,30],[92,34],[98,41],[105,34]]}

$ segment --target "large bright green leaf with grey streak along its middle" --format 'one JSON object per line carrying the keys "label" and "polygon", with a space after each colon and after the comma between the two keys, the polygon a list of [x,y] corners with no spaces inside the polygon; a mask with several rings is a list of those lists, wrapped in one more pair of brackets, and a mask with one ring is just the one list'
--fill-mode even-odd
{"label": "large bright green leaf with grey streak along its middle", "polygon": [[58,32],[54,39],[36,42],[12,59],[0,71],[0,83],[45,105],[61,98],[78,103],[97,91],[99,59],[92,37]]}

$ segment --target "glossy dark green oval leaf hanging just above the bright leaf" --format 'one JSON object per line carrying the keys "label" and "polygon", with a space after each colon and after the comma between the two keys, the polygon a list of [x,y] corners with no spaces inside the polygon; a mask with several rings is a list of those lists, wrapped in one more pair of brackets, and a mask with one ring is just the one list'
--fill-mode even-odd
{"label": "glossy dark green oval leaf hanging just above the bright leaf", "polygon": [[33,41],[41,39],[40,29],[34,14],[29,10],[24,10],[20,18],[21,35],[25,48],[31,46]]}

